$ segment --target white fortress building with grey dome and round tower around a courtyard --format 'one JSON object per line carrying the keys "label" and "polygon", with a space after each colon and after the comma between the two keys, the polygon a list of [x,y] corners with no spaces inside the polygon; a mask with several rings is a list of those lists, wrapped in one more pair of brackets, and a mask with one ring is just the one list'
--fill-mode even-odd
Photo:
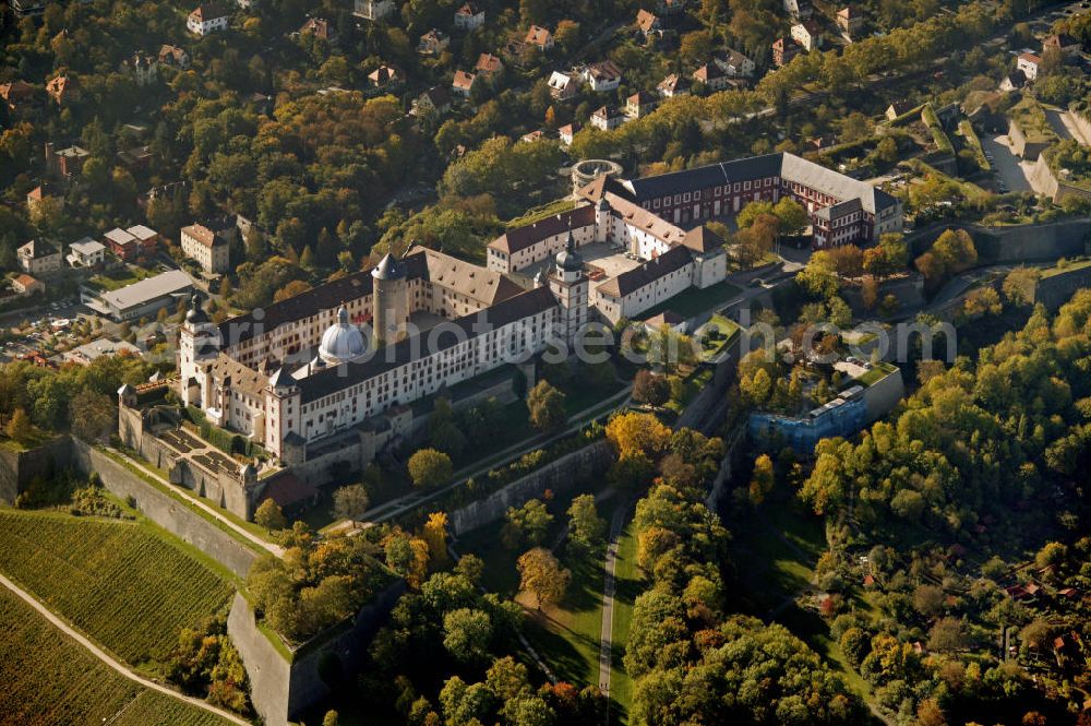
{"label": "white fortress building with grey dome and round tower around a courtyard", "polygon": [[194,299],[178,393],[209,422],[303,464],[382,414],[571,341],[587,320],[575,242],[532,289],[417,249],[218,325]]}

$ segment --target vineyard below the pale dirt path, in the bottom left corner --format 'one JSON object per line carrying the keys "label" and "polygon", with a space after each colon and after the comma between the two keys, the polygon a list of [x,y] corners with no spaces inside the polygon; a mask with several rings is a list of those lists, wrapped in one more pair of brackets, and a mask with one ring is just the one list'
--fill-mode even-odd
{"label": "vineyard below the pale dirt path, in the bottom left corner", "polygon": [[22,726],[218,726],[227,722],[111,670],[0,590],[0,714]]}

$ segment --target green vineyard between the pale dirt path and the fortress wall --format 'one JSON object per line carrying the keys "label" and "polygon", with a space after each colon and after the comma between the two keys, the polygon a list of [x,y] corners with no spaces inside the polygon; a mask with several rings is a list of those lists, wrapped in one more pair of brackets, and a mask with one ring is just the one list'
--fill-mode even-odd
{"label": "green vineyard between the pale dirt path and the fortress wall", "polygon": [[148,667],[231,587],[149,525],[0,511],[0,571],[118,657]]}

